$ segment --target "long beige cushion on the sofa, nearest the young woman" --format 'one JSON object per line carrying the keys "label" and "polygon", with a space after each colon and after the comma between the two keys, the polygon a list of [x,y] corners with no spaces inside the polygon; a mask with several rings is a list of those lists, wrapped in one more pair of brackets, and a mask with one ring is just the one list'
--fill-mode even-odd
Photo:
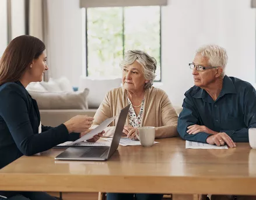
{"label": "long beige cushion on the sofa, nearest the young woman", "polygon": [[88,109],[89,90],[76,92],[29,91],[39,109]]}

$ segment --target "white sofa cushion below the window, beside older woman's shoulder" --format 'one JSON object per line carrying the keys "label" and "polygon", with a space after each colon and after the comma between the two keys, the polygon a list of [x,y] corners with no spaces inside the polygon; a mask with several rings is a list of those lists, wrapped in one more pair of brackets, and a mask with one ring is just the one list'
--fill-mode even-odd
{"label": "white sofa cushion below the window, beside older woman's shoulder", "polygon": [[88,95],[89,108],[99,108],[108,91],[121,86],[121,78],[115,79],[93,79],[90,77],[80,77],[79,90],[89,88]]}

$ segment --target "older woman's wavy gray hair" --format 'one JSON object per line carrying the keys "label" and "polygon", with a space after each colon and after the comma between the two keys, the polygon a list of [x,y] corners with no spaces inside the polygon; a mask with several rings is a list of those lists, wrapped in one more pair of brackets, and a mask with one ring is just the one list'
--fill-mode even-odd
{"label": "older woman's wavy gray hair", "polygon": [[141,50],[129,50],[125,53],[124,60],[120,63],[120,67],[123,68],[132,65],[135,61],[141,64],[144,77],[146,80],[149,80],[149,82],[145,84],[145,89],[150,88],[156,77],[156,59]]}

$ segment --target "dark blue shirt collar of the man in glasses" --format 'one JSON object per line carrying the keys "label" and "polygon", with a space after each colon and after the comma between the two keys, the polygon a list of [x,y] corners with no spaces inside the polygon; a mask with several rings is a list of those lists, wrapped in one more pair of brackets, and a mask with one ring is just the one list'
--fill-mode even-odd
{"label": "dark blue shirt collar of the man in glasses", "polygon": [[[234,87],[234,83],[231,80],[230,77],[226,76],[223,78],[223,86],[222,86],[222,91],[220,91],[219,97],[224,96],[225,94],[236,94],[236,88]],[[207,92],[200,88],[200,90],[198,90],[198,92],[193,96],[194,98],[202,98],[205,99],[207,98],[208,94]]]}

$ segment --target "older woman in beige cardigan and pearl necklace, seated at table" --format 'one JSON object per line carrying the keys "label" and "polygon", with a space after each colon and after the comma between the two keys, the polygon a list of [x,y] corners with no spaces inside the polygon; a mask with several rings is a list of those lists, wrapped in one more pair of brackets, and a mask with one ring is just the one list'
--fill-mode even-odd
{"label": "older woman in beige cardigan and pearl necklace, seated at table", "polygon": [[[156,77],[156,60],[147,53],[134,50],[125,54],[121,64],[122,87],[109,91],[94,115],[93,126],[109,117],[119,115],[129,103],[129,114],[123,130],[128,138],[136,139],[135,130],[142,126],[156,127],[156,138],[176,137],[178,116],[163,90],[152,87]],[[106,137],[114,134],[117,120],[104,131]],[[92,127],[93,127],[92,126]],[[133,199],[134,194],[107,194],[107,198]],[[158,194],[137,194],[136,199],[161,199]]]}

